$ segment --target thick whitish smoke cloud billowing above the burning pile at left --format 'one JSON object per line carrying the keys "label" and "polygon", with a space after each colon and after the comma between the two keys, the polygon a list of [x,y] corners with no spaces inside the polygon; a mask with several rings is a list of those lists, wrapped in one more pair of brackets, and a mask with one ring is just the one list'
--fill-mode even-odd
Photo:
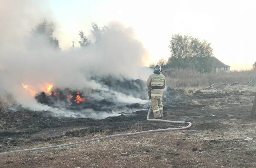
{"label": "thick whitish smoke cloud billowing above the burning pile at left", "polygon": [[[48,106],[36,102],[29,89],[44,91],[47,84],[53,84],[59,88],[107,90],[108,88],[90,80],[90,77],[108,74],[143,80],[148,77],[150,71],[141,67],[147,59],[147,52],[142,43],[136,40],[133,29],[125,28],[120,23],[110,23],[102,31],[92,31],[89,35],[93,37],[92,44],[88,47],[55,50],[48,47],[49,45],[42,46],[45,43],[44,38],[30,37],[30,31],[36,25],[36,15],[31,17],[35,9],[31,13],[27,13],[26,9],[32,6],[35,7],[35,4],[31,4],[31,1],[16,1],[16,4],[3,1],[0,6],[2,99],[6,93],[10,93],[13,100],[25,107],[49,110]],[[39,23],[42,19],[40,16],[38,18]],[[23,88],[22,84],[27,85],[27,88]],[[112,92],[111,95],[116,96],[116,100],[120,102],[146,103],[139,98]],[[93,115],[97,116],[95,113]]]}

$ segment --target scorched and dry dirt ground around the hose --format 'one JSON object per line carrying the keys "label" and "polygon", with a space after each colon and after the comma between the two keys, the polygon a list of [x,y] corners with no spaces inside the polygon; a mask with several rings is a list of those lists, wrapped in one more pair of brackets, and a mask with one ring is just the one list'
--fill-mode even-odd
{"label": "scorched and dry dirt ground around the hose", "polygon": [[[0,168],[256,167],[255,87],[215,85],[164,100],[164,119],[188,130],[140,134],[57,149],[0,155]],[[52,146],[119,133],[182,127],[146,121],[147,110],[102,120],[0,109],[0,152]],[[151,116],[152,117],[152,116]]]}

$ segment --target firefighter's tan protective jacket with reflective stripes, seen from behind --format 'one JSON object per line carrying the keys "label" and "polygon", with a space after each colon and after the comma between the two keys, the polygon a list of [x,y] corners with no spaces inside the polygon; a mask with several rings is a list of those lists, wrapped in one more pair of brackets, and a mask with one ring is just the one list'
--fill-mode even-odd
{"label": "firefighter's tan protective jacket with reflective stripes, seen from behind", "polygon": [[148,90],[151,90],[151,97],[159,99],[163,96],[163,89],[166,86],[166,78],[163,74],[152,74],[147,80]]}

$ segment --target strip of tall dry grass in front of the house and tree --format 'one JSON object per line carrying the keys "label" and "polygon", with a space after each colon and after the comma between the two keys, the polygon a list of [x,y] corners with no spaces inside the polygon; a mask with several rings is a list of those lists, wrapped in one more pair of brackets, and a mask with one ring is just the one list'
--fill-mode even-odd
{"label": "strip of tall dry grass in front of the house and tree", "polygon": [[169,87],[198,87],[220,83],[247,84],[255,71],[232,71],[229,73],[198,74],[194,69],[176,69],[174,74],[163,72]]}

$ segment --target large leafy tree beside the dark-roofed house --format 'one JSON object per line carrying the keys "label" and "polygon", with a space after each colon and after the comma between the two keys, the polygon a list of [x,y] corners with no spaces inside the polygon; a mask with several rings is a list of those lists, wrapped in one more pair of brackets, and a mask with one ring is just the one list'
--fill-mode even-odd
{"label": "large leafy tree beside the dark-roofed house", "polygon": [[170,41],[171,56],[167,62],[172,68],[194,68],[198,72],[212,71],[211,43],[198,38],[175,34]]}

